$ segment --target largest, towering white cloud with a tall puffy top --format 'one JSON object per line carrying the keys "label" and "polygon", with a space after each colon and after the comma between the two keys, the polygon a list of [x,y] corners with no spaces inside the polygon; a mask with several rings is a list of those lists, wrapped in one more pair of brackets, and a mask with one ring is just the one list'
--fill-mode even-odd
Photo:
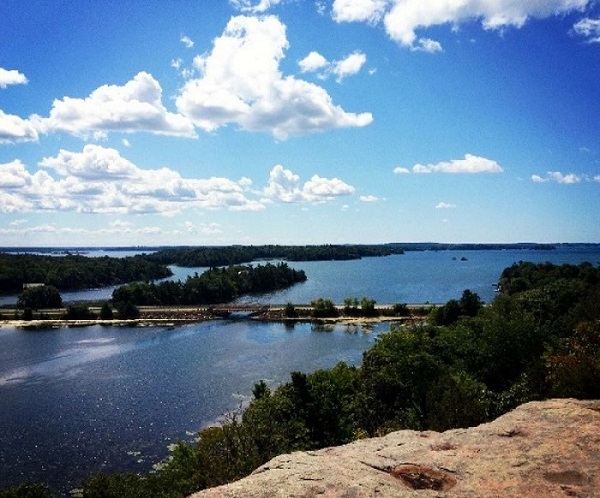
{"label": "largest, towering white cloud with a tall puffy top", "polygon": [[178,110],[205,131],[227,124],[290,136],[370,124],[370,113],[354,114],[334,105],[322,88],[279,68],[288,41],[274,16],[232,18],[208,54],[195,58],[200,77],[186,82]]}

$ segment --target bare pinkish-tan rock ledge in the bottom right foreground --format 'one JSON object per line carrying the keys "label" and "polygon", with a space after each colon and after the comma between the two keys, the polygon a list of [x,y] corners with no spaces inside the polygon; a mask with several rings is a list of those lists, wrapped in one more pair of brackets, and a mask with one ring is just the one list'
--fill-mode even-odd
{"label": "bare pinkish-tan rock ledge in the bottom right foreground", "polygon": [[194,498],[600,497],[600,401],[527,403],[494,422],[281,455]]}

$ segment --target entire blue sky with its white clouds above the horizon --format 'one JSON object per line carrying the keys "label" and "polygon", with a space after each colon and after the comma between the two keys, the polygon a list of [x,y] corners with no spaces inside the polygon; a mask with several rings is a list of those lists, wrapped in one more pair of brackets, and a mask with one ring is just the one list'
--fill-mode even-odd
{"label": "entire blue sky with its white clouds above the horizon", "polygon": [[0,246],[424,241],[600,242],[600,1],[0,1]]}

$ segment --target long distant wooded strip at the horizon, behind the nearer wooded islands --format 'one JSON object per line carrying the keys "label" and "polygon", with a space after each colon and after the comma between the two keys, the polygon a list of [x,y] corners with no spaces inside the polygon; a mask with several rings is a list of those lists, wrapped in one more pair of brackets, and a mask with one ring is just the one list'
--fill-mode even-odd
{"label": "long distant wooded strip at the horizon, behind the nearer wooded islands", "polygon": [[385,245],[309,245],[309,246],[222,246],[178,247],[164,249],[146,257],[162,264],[193,266],[227,266],[259,259],[287,261],[331,261],[402,254],[399,248]]}

